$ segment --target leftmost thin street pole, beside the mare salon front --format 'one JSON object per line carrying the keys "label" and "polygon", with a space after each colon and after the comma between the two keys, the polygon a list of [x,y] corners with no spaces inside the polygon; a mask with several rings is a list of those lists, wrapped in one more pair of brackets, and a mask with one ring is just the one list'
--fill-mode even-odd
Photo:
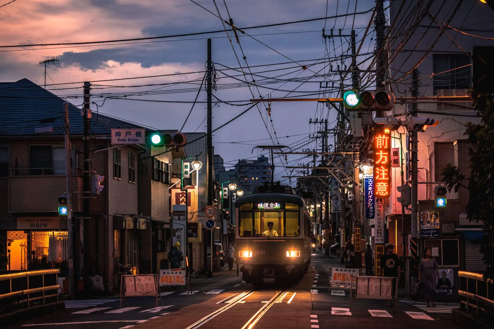
{"label": "leftmost thin street pole, beside the mare salon front", "polygon": [[69,134],[69,104],[63,104],[65,118],[65,185],[67,191],[67,234],[69,236],[69,292],[72,300],[76,299],[76,269],[74,267],[74,223],[72,222],[72,166],[71,144]]}

